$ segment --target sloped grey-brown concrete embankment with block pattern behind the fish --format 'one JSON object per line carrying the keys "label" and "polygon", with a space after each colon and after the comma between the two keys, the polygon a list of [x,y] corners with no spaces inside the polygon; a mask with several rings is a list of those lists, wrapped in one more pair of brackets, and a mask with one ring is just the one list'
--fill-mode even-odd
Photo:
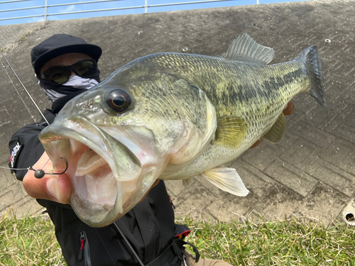
{"label": "sloped grey-brown concrete embankment with block pattern behind the fish", "polygon": [[[180,182],[168,182],[168,186],[178,213],[195,209],[212,218],[226,218],[256,210],[273,219],[304,211],[327,220],[329,214],[338,216],[354,198],[354,11],[354,1],[310,1],[18,24],[0,27],[0,45],[42,108],[48,101],[35,82],[29,55],[33,45],[54,33],[77,35],[100,45],[102,77],[154,52],[222,55],[241,33],[273,48],[273,63],[292,60],[304,48],[317,45],[329,109],[325,111],[308,95],[296,96],[296,110],[287,119],[283,141],[262,143],[233,163],[251,190],[249,196],[236,198],[200,180],[189,189]],[[13,74],[9,75],[24,95]],[[5,166],[11,134],[33,123],[33,118],[4,70],[0,71],[0,92],[0,165]],[[31,102],[23,97],[38,119]],[[0,214],[10,206],[19,213],[33,211],[33,201],[21,192],[9,170],[0,170],[0,176]]]}

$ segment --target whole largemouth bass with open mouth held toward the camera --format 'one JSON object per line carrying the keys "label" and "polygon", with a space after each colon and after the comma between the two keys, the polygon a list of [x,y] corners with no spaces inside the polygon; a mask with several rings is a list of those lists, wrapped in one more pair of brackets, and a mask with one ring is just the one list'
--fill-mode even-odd
{"label": "whole largemouth bass with open mouth held toward the camera", "polygon": [[107,226],[156,179],[187,184],[200,176],[246,196],[236,170],[218,166],[260,138],[278,143],[283,109],[296,94],[308,92],[326,107],[317,48],[267,65],[274,54],[243,34],[222,57],[147,55],[69,101],[40,141],[55,171],[67,167],[77,216]]}

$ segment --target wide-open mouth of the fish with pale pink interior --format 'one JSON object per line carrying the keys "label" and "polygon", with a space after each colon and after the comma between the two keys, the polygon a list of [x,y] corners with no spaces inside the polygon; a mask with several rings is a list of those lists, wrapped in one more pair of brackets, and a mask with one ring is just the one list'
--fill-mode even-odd
{"label": "wide-open mouth of the fish with pale pink interior", "polygon": [[67,167],[70,205],[82,221],[99,227],[124,215],[141,174],[129,148],[86,118],[53,123],[40,133],[40,141],[55,172]]}

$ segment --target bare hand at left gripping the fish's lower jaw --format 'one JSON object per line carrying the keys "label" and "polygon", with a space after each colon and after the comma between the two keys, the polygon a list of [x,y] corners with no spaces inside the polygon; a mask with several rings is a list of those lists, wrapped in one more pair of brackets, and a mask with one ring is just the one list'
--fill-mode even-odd
{"label": "bare hand at left gripping the fish's lower jaw", "polygon": [[[33,165],[33,169],[53,172],[53,163],[47,153]],[[35,172],[29,170],[23,177],[23,187],[27,194],[35,199],[48,199],[62,204],[70,202],[72,183],[67,174],[45,174],[41,179],[35,177]]]}

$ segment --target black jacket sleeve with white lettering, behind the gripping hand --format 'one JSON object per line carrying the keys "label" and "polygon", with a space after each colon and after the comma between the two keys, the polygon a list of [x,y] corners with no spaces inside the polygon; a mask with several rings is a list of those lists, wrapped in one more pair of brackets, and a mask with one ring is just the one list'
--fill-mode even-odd
{"label": "black jacket sleeve with white lettering, behind the gripping hand", "polygon": [[[38,124],[31,124],[19,129],[9,142],[10,150],[10,163],[11,168],[28,168],[37,162],[40,156],[44,153],[44,148],[38,135],[45,126],[39,126]],[[16,178],[22,181],[23,177],[27,173],[25,170],[12,170],[16,173]]]}

